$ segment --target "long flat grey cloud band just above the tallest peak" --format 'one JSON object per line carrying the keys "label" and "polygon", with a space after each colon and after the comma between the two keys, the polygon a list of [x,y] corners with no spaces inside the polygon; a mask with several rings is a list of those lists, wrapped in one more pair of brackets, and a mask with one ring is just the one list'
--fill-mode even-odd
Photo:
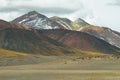
{"label": "long flat grey cloud band just above the tallest peak", "polygon": [[36,10],[42,13],[56,13],[56,14],[69,14],[77,11],[77,9],[67,9],[59,7],[39,7],[39,6],[16,6],[16,7],[3,7],[0,8],[0,12],[28,12],[31,10]]}

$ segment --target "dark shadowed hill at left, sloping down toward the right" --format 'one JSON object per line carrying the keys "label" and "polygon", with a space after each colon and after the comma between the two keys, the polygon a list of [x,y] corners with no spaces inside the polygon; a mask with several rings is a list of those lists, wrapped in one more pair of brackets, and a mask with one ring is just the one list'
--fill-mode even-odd
{"label": "dark shadowed hill at left, sloping down toward the right", "polygon": [[68,55],[76,53],[72,51],[74,49],[38,34],[36,30],[19,28],[19,26],[0,21],[1,49],[40,55]]}

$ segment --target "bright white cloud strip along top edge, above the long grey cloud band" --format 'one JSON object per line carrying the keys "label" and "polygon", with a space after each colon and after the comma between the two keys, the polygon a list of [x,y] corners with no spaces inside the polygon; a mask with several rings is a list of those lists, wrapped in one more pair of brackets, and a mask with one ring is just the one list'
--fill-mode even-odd
{"label": "bright white cloud strip along top edge, above the long grey cloud band", "polygon": [[10,7],[15,6],[39,6],[39,7],[59,7],[59,8],[70,8],[76,9],[82,7],[82,3],[80,0],[76,0],[74,2],[69,0],[6,0],[7,4]]}

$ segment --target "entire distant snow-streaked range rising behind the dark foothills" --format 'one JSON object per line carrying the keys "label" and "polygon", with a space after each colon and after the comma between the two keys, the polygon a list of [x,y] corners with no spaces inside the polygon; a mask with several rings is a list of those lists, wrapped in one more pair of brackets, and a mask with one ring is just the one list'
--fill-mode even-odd
{"label": "entire distant snow-streaked range rising behind the dark foothills", "polygon": [[110,28],[91,25],[80,18],[75,21],[57,16],[48,18],[36,11],[31,11],[11,22],[29,26],[33,29],[68,29],[85,32],[120,48],[119,32]]}

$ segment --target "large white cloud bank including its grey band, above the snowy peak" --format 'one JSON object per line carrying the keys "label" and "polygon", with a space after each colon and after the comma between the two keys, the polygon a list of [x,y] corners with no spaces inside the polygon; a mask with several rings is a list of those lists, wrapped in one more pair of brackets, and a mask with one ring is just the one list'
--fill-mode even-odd
{"label": "large white cloud bank including its grey band, above the snowy peak", "polygon": [[[6,3],[4,6],[0,5],[0,13],[4,14],[25,14],[29,11],[36,10],[48,16],[64,16],[70,17],[85,16],[85,7],[81,0],[2,0]],[[10,6],[9,6],[10,5]],[[54,14],[54,15],[53,15]],[[9,18],[10,19],[10,18]]]}

